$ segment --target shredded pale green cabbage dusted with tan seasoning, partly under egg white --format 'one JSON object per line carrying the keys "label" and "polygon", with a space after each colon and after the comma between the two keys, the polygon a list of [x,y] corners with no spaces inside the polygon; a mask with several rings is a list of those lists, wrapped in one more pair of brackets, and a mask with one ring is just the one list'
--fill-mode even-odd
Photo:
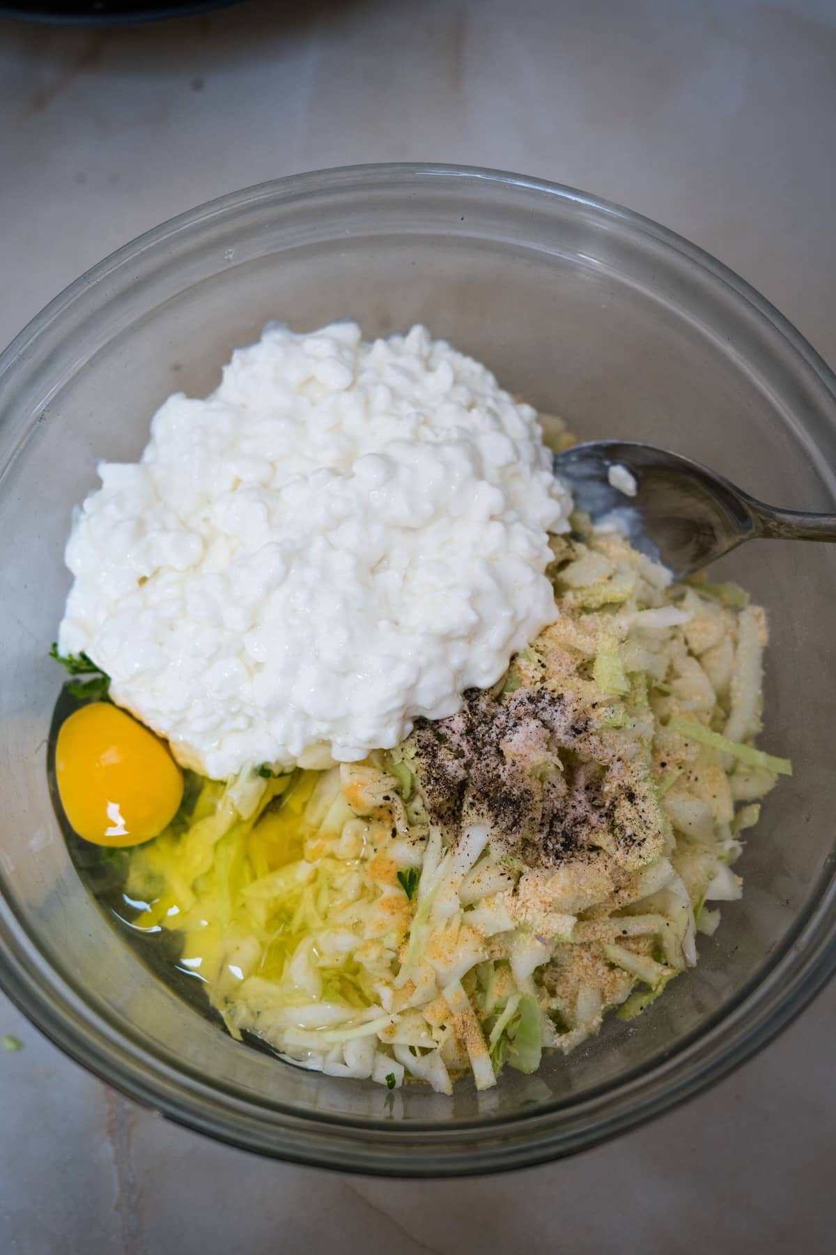
{"label": "shredded pale green cabbage dusted with tan seasoning, partly under egg white", "polygon": [[137,929],[179,934],[178,966],[233,1035],[328,1076],[449,1094],[466,1073],[486,1089],[574,1049],[609,1009],[634,1018],[697,963],[719,924],[707,904],[742,892],[739,833],[791,773],[748,743],[763,616],[736,586],[672,585],[619,533],[574,525],[583,541],[551,541],[559,615],[493,692],[570,692],[592,742],[508,753],[530,754],[543,797],[629,769],[642,808],[623,786],[608,813],[628,830],[639,814],[643,840],[604,825],[540,866],[481,813],[451,827],[414,738],[322,772],[191,779],[172,827],[132,851],[127,889],[147,904]]}

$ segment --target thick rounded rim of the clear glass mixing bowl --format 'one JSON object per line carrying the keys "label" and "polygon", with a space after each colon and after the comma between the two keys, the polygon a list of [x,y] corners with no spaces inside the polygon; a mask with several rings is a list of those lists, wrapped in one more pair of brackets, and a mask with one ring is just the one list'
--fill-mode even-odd
{"label": "thick rounded rim of the clear glass mixing bowl", "polygon": [[[653,237],[691,261],[718,286],[731,289],[738,302],[755,310],[757,318],[787,341],[791,353],[802,359],[836,404],[836,375],[816,350],[746,280],[697,245],[643,215],[572,187],[505,171],[435,163],[361,164],[290,174],[229,192],[169,218],[104,257],[35,315],[0,355],[0,383],[38,339],[48,335],[73,305],[88,297],[108,276],[198,225],[232,216],[244,205],[259,201],[281,202],[311,192],[338,195],[392,181],[444,178],[520,188],[544,200],[556,197]],[[142,1045],[132,1045],[124,1033],[108,1028],[100,1018],[97,1022],[83,996],[50,966],[23,921],[14,919],[14,910],[9,920],[0,921],[0,986],[46,1037],[100,1079],[175,1122],[221,1141],[292,1162],[350,1172],[400,1177],[466,1176],[541,1163],[625,1132],[694,1097],[772,1040],[836,970],[832,860],[822,867],[817,889],[818,892],[808,897],[806,911],[776,948],[768,966],[758,970],[731,1007],[709,1017],[669,1054],[662,1053],[649,1068],[633,1069],[580,1098],[569,1097],[556,1109],[551,1107],[530,1116],[513,1113],[489,1122],[444,1126],[421,1122],[406,1128],[395,1122],[386,1127],[365,1122],[363,1127],[360,1118],[323,1118],[318,1113],[316,1119],[283,1113],[280,1121],[281,1113],[273,1108],[269,1113],[272,1127],[266,1130],[266,1108],[253,1116],[257,1108],[248,1109],[244,1102],[236,1104],[229,1094],[219,1119],[214,1109],[218,1091],[198,1078],[187,1078],[189,1083],[184,1087],[184,1073],[168,1068]],[[785,988],[782,978],[790,971],[792,979]],[[753,996],[756,1005],[752,1005]],[[628,1087],[629,1092],[622,1093]],[[560,1118],[559,1128],[553,1127],[556,1117]]]}

